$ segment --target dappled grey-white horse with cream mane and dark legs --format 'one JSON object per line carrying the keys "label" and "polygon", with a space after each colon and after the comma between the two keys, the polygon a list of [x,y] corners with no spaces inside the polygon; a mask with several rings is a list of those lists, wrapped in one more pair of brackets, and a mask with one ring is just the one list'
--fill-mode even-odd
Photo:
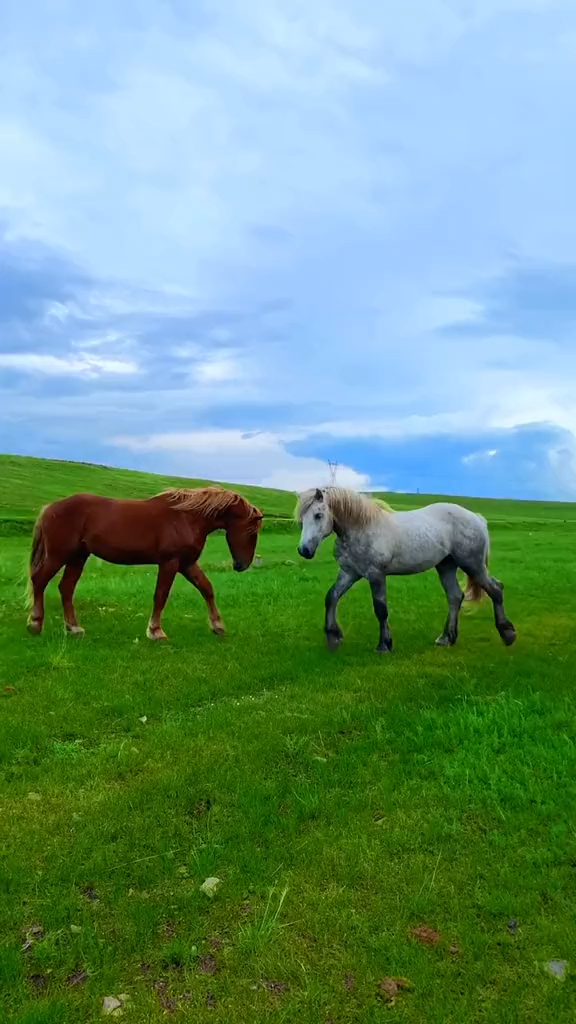
{"label": "dappled grey-white horse with cream mane and dark legs", "polygon": [[431,568],[440,577],[449,608],[437,644],[452,646],[458,637],[458,615],[464,600],[458,569],[467,575],[466,599],[478,601],[486,591],[494,605],[500,637],[506,646],[515,642],[516,629],[504,612],[503,585],[488,572],[490,537],[483,516],[447,502],[394,512],[384,502],[330,486],[304,490],[298,498],[296,519],[302,527],[298,553],[303,558],[314,558],[322,541],[336,535],[340,572],[326,595],[324,627],[330,649],[338,647],[343,637],[336,622],[338,601],[359,580],[368,580],[380,624],[376,650],[390,651],[386,577],[412,575]]}

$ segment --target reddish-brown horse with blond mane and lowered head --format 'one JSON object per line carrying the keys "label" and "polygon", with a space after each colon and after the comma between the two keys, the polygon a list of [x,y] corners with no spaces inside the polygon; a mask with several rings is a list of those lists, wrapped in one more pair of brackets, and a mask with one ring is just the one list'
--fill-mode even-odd
{"label": "reddish-brown horse with blond mane and lowered head", "polygon": [[212,584],[197,564],[208,534],[224,529],[237,572],[254,557],[262,512],[223,487],[164,490],[143,501],[118,501],[95,495],[73,495],[42,509],[34,527],[30,579],[34,606],[31,633],[44,625],[44,591],[66,566],[58,589],[69,633],[83,636],[73,597],[90,555],[116,565],[158,565],[154,608],[148,624],[151,640],[164,640],[164,605],[177,572],[200,591],[208,605],[214,633],[224,627],[214,604]]}

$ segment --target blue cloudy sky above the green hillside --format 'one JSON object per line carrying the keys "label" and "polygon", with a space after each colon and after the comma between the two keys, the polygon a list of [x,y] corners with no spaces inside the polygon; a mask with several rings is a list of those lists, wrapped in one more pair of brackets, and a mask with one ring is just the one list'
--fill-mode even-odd
{"label": "blue cloudy sky above the green hillside", "polygon": [[576,499],[574,96],[573,0],[4,0],[0,450]]}

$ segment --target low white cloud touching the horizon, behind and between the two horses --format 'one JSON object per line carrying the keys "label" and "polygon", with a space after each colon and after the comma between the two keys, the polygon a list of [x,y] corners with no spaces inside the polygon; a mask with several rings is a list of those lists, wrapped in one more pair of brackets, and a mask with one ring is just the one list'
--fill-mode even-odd
{"label": "low white cloud touching the horizon, behind and between the two horses", "polygon": [[[291,455],[274,433],[239,430],[196,430],[188,433],[116,437],[112,443],[131,452],[163,452],[174,472],[201,479],[252,483],[283,490],[302,490],[330,481],[330,470],[320,459]],[[367,489],[369,477],[349,466],[338,466],[341,486]]]}

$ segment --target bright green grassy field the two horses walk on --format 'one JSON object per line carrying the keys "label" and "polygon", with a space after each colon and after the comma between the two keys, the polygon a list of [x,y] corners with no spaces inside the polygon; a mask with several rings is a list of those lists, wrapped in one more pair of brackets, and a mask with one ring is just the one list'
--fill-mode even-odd
{"label": "bright green grassy field the two horses walk on", "polygon": [[[0,469],[0,519],[23,534],[60,495],[166,485]],[[291,512],[290,496],[252,497]],[[127,995],[127,1024],[574,1021],[576,509],[470,505],[492,527],[509,649],[488,604],[466,609],[456,648],[434,647],[445,604],[428,573],[390,581],[393,655],[374,653],[367,586],[342,602],[329,654],[332,545],[303,562],[297,534],[272,526],[244,575],[222,538],[205,551],[227,637],[180,580],[169,641],[148,642],[154,570],[91,560],[86,637],[64,635],[52,585],[32,638],[30,539],[6,528],[2,1019],[85,1024]],[[410,982],[394,1005],[389,977]]]}

